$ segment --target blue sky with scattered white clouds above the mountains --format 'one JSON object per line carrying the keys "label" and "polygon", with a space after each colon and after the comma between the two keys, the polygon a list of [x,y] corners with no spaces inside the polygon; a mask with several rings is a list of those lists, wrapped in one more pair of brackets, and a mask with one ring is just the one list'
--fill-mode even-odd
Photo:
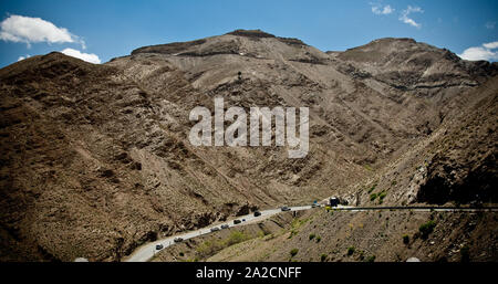
{"label": "blue sky with scattered white clouds above the mountains", "polygon": [[413,38],[498,61],[496,0],[1,0],[0,20],[0,66],[63,50],[104,63],[139,46],[236,29],[299,38],[322,51]]}

